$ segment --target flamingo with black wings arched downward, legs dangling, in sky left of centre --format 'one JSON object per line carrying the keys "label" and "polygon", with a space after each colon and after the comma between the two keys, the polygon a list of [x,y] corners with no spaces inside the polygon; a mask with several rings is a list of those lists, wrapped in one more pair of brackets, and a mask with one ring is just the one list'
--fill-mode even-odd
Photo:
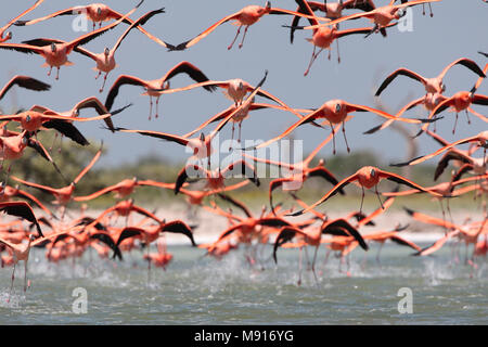
{"label": "flamingo with black wings arched downward, legs dangling, in sky left of centre", "polygon": [[[143,95],[147,94],[150,97],[150,116],[149,116],[150,120],[153,110],[153,98],[156,98],[156,114],[154,116],[157,118],[158,117],[157,108],[159,105],[159,98],[160,98],[159,91],[169,89],[169,80],[179,74],[187,74],[190,78],[192,78],[197,82],[208,81],[207,76],[205,76],[205,74],[202,73],[200,68],[197,68],[193,64],[190,64],[189,62],[178,63],[177,65],[171,67],[162,78],[153,80],[145,80],[130,75],[120,75],[114,82],[114,85],[111,87],[108,94],[106,95],[105,107],[106,110],[112,108],[115,98],[118,95],[118,89],[121,86],[124,85],[140,86],[145,89]],[[213,86],[205,86],[204,88],[210,92],[215,90],[215,87]]]}

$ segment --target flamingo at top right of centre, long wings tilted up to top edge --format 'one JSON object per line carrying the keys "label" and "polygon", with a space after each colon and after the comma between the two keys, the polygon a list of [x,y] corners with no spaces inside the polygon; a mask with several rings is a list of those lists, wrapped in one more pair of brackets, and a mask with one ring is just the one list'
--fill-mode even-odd
{"label": "flamingo at top right of centre, long wings tilted up to top edge", "polygon": [[370,33],[370,34],[373,34],[374,31],[380,31],[383,28],[387,27],[391,23],[391,21],[399,20],[402,16],[404,16],[407,13],[403,10],[404,8],[414,7],[418,4],[425,4],[425,3],[431,4],[431,2],[438,2],[440,0],[415,0],[415,1],[406,1],[406,2],[402,1],[401,4],[396,4],[396,5],[394,4],[395,1],[396,0],[391,0],[389,2],[389,4],[387,4],[385,7],[376,8],[369,12],[355,13],[355,14],[346,15],[341,18],[331,21],[331,22],[325,22],[323,24],[306,26],[305,29],[316,29],[321,26],[330,26],[330,25],[335,25],[335,24],[342,23],[344,21],[350,21],[350,20],[356,20],[356,18],[360,18],[360,17],[365,17],[374,23],[374,27]]}

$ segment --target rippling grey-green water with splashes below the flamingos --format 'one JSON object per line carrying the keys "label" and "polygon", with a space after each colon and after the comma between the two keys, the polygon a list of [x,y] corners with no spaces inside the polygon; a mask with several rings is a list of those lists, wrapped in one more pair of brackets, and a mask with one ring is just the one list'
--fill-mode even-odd
{"label": "rippling grey-green water with splashes below the flamingos", "polygon": [[[304,271],[297,285],[298,252],[280,249],[279,265],[249,267],[244,250],[222,260],[202,257],[203,249],[168,246],[174,260],[166,271],[147,266],[141,252],[123,262],[93,253],[75,264],[49,264],[40,249],[29,260],[31,287],[24,295],[24,266],[17,266],[15,294],[7,303],[12,268],[0,269],[1,324],[487,324],[488,261],[478,269],[453,264],[450,247],[435,257],[411,257],[409,249],[385,244],[381,266],[376,245],[351,254],[350,277],[338,259],[323,266],[319,250],[316,283]],[[265,249],[265,256],[271,254]],[[311,250],[311,249],[309,249]],[[309,252],[311,257],[312,253]],[[461,258],[464,257],[462,253]],[[305,267],[306,269],[306,267]],[[343,270],[346,265],[343,266]],[[76,314],[76,287],[87,291],[87,313]],[[412,291],[413,313],[400,314],[397,296]]]}

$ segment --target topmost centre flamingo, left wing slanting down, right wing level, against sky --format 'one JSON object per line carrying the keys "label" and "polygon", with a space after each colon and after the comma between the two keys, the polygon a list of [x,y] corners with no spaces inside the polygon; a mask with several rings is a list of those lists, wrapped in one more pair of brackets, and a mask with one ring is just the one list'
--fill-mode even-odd
{"label": "topmost centre flamingo, left wing slanting down, right wing level, against sky", "polygon": [[241,43],[239,43],[239,48],[242,48],[243,43],[244,43],[244,39],[247,34],[247,29],[249,28],[249,26],[252,26],[253,24],[258,22],[264,15],[267,15],[267,14],[287,14],[287,15],[294,15],[294,16],[308,17],[307,15],[305,15],[303,13],[288,11],[285,9],[271,8],[271,2],[269,2],[269,1],[266,2],[266,7],[247,5],[235,13],[224,16],[223,18],[216,22],[215,24],[209,26],[207,29],[205,29],[204,31],[202,31],[201,34],[198,34],[197,36],[192,38],[191,40],[184,41],[176,47],[175,46],[169,47],[169,50],[170,51],[185,50],[185,49],[192,47],[193,44],[195,44],[196,42],[198,42],[200,40],[202,40],[203,38],[205,38],[207,35],[209,35],[211,31],[214,31],[219,25],[227,23],[229,21],[235,21],[235,25],[237,25],[239,27],[237,27],[237,33],[235,34],[234,39],[232,40],[232,42],[229,44],[229,47],[227,49],[228,50],[232,49],[232,46],[234,46],[235,40],[237,39],[239,34],[241,33],[241,28],[243,26],[245,26],[242,41],[241,41]]}

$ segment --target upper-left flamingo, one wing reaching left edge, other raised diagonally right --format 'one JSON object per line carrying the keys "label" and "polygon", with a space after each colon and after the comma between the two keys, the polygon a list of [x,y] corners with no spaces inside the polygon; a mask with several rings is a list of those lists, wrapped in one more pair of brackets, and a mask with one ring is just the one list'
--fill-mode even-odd
{"label": "upper-left flamingo, one wing reaching left edge, other raised diagonally right", "polygon": [[[141,2],[142,3],[142,2]],[[27,41],[28,43],[0,43],[0,49],[7,49],[7,50],[15,50],[21,53],[28,53],[28,54],[39,54],[42,57],[44,57],[46,63],[43,66],[50,66],[50,69],[48,72],[48,76],[51,75],[51,70],[53,67],[56,67],[57,74],[55,79],[60,78],[60,67],[63,65],[73,65],[72,62],[68,61],[68,54],[76,49],[80,44],[86,44],[93,40],[94,38],[99,37],[102,34],[105,34],[107,30],[113,29],[116,27],[124,18],[132,14],[138,7],[141,4],[139,3],[136,5],[134,9],[132,9],[129,13],[127,13],[124,17],[119,18],[118,21],[100,28],[95,31],[92,31],[90,34],[82,35],[78,38],[76,38],[73,41],[69,42],[63,42],[63,43],[48,43],[44,46],[44,39],[35,39]],[[39,44],[39,46],[36,46]]]}

